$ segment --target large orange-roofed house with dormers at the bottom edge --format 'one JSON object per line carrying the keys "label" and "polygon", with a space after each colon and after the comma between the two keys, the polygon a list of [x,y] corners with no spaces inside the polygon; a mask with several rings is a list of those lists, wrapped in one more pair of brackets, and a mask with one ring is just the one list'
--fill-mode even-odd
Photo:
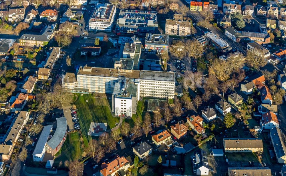
{"label": "large orange-roofed house with dormers at the bottom edge", "polygon": [[104,162],[101,164],[100,176],[114,176],[120,175],[125,176],[125,171],[130,167],[129,161],[124,157],[120,157],[118,154],[114,156],[112,161]]}

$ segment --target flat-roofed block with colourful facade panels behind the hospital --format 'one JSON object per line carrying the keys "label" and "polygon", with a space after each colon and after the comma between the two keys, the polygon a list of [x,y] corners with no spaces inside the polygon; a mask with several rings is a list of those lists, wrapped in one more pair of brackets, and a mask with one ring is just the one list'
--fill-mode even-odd
{"label": "flat-roofed block with colourful facade panels behind the hospital", "polygon": [[146,34],[145,52],[148,54],[168,53],[169,35]]}

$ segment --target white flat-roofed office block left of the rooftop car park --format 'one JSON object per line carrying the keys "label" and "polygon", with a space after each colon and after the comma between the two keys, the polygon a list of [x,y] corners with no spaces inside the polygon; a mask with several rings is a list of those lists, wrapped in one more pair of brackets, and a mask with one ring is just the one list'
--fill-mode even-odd
{"label": "white flat-roofed office block left of the rooftop car park", "polygon": [[97,4],[88,22],[89,30],[111,32],[115,13],[115,5]]}

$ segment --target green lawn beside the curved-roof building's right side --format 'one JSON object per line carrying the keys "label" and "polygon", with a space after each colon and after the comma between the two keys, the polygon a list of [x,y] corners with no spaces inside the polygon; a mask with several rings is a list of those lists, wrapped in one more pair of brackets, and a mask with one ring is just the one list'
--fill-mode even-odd
{"label": "green lawn beside the curved-roof building's right side", "polygon": [[78,132],[67,134],[65,143],[58,153],[55,154],[55,163],[65,160],[75,161],[82,157],[82,147],[80,143],[80,135]]}

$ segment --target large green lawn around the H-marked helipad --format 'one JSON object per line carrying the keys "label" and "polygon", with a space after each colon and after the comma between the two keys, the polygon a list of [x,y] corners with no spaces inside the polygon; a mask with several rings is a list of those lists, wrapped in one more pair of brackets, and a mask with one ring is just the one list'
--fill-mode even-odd
{"label": "large green lawn around the H-marked helipad", "polygon": [[[88,136],[88,130],[91,122],[107,123],[107,129],[114,128],[119,122],[119,117],[113,117],[110,112],[110,105],[105,98],[94,98],[92,94],[80,94],[76,100],[76,108],[80,129],[82,131],[84,145],[88,146],[91,136]],[[88,102],[86,102],[88,100]]]}

